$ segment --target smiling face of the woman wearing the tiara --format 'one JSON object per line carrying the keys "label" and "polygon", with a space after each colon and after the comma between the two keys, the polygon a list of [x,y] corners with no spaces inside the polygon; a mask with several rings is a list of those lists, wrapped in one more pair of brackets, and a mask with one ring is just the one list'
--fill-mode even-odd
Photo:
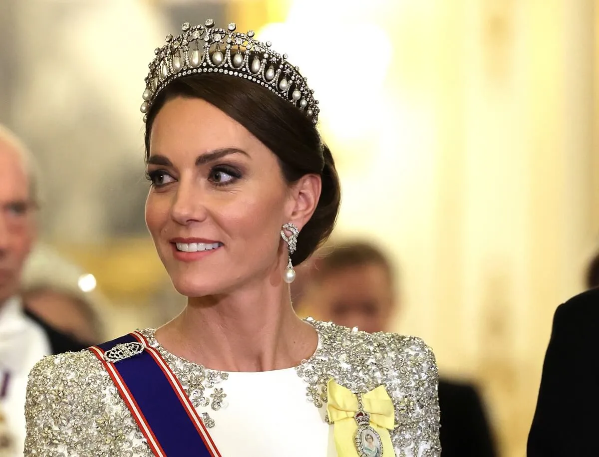
{"label": "smiling face of the woman wearing the tiara", "polygon": [[282,280],[280,229],[294,211],[277,157],[201,99],[175,98],[150,138],[146,223],[179,293]]}

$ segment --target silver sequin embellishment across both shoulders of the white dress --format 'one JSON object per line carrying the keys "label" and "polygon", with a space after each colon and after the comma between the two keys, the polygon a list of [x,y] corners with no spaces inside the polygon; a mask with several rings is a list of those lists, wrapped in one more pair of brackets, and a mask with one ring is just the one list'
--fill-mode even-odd
{"label": "silver sequin embellishment across both shoulders of the white dress", "polygon": [[[320,346],[296,368],[307,383],[307,399],[325,407],[330,377],[355,392],[383,384],[395,404],[397,427],[391,431],[395,455],[438,457],[437,367],[423,341],[309,322],[319,332]],[[153,330],[142,333],[179,378],[205,425],[214,426],[208,411],[222,407],[228,374],[168,353],[156,342]],[[38,362],[29,378],[25,415],[26,457],[152,457],[110,376],[89,351]]]}

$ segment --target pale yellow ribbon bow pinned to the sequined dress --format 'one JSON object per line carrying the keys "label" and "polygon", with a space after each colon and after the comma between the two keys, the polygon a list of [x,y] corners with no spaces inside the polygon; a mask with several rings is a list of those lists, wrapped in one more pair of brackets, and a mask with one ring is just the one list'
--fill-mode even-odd
{"label": "pale yellow ribbon bow pinned to the sequined dress", "polygon": [[[327,384],[328,402],[326,412],[329,420],[335,423],[335,447],[339,457],[359,457],[355,445],[358,423],[353,418],[358,412],[358,397],[349,389],[338,385],[335,380]],[[370,414],[370,426],[380,435],[383,445],[382,457],[394,457],[389,430],[395,427],[395,408],[385,386],[362,395],[364,411]]]}

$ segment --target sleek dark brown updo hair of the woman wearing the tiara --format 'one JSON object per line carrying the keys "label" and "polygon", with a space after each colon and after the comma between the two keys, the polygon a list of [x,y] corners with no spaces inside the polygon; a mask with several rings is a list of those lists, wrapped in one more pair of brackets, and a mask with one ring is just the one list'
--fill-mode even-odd
{"label": "sleek dark brown updo hair of the woman wearing the tiara", "polygon": [[314,123],[290,102],[251,81],[222,74],[189,75],[173,80],[153,101],[146,121],[146,159],[156,114],[176,97],[201,98],[243,125],[279,158],[288,183],[306,174],[320,176],[320,199],[291,256],[294,265],[301,264],[331,234],[341,200],[335,162]]}

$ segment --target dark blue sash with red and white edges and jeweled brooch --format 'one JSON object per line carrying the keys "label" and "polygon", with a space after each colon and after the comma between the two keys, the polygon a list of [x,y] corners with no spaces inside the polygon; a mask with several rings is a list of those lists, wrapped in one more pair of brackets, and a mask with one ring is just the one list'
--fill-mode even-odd
{"label": "dark blue sash with red and white edges and jeweled brooch", "polygon": [[139,332],[89,350],[102,362],[157,457],[220,457],[181,384]]}

